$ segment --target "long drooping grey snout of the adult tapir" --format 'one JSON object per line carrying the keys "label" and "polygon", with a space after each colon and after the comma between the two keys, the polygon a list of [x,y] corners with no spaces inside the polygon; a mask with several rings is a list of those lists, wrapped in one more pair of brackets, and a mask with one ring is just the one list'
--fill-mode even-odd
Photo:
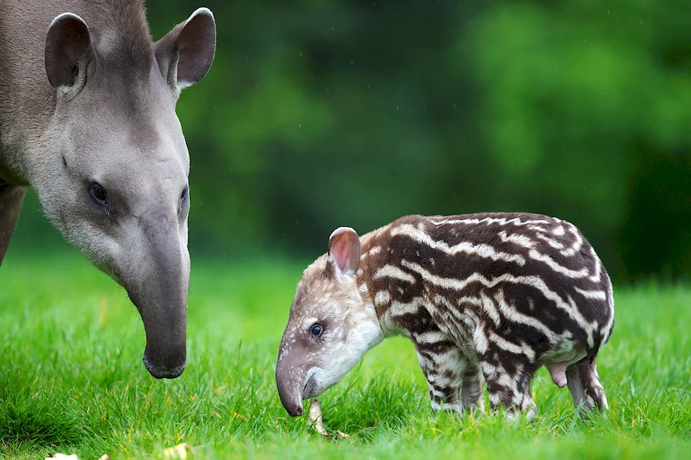
{"label": "long drooping grey snout of the adult tapir", "polygon": [[137,306],[146,332],[144,365],[157,379],[175,379],[187,359],[189,253],[173,215],[153,214],[138,223],[124,272],[117,273]]}

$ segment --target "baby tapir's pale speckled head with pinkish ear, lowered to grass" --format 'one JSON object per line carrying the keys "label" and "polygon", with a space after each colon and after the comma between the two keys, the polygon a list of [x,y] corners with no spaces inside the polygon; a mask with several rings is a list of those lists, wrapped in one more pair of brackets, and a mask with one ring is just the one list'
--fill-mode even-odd
{"label": "baby tapir's pale speckled head with pinkish ear, lowered to grass", "polygon": [[358,289],[359,266],[360,239],[341,227],[298,283],[276,365],[278,395],[292,417],[302,414],[303,399],[339,383],[384,337],[374,305]]}

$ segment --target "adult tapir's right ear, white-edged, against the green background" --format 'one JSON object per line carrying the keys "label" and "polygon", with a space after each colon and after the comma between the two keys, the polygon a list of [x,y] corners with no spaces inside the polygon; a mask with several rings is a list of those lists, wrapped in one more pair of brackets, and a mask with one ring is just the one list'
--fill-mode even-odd
{"label": "adult tapir's right ear, white-edged, against the green background", "polygon": [[216,52],[216,22],[208,8],[199,8],[155,44],[158,66],[168,83],[182,90],[204,78]]}

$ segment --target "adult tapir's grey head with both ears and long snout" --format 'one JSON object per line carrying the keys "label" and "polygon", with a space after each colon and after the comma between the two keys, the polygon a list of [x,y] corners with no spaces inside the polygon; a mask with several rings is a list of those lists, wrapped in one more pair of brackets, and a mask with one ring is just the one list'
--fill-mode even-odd
{"label": "adult tapir's grey head with both ears and long snout", "polygon": [[55,111],[30,181],[66,239],[126,289],[146,368],[172,379],[186,363],[189,286],[189,154],[175,109],[211,66],[216,26],[200,8],[153,43],[140,2],[97,8],[47,30]]}

